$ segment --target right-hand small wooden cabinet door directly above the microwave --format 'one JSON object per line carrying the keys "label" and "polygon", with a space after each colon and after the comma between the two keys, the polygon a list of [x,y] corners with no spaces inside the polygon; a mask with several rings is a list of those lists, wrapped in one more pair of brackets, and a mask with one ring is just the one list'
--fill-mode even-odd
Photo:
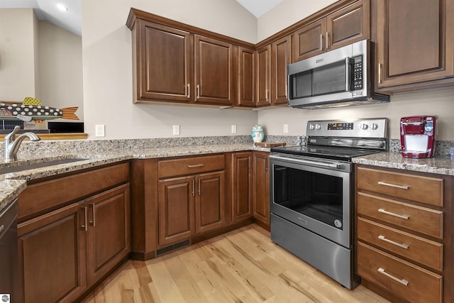
{"label": "right-hand small wooden cabinet door directly above the microwave", "polygon": [[370,0],[360,0],[326,16],[326,50],[370,37]]}

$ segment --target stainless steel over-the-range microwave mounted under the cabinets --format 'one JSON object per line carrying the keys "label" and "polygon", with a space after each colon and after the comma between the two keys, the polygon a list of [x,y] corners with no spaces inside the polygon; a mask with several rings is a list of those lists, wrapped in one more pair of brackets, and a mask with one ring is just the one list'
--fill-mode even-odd
{"label": "stainless steel over-the-range microwave mounted under the cabinets", "polygon": [[361,40],[287,67],[289,105],[321,109],[389,102],[374,92],[374,45]]}

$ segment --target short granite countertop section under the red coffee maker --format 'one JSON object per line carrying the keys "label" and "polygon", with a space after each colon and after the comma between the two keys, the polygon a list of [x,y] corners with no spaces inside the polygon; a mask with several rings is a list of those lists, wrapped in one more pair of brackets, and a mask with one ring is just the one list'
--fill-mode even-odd
{"label": "short granite countertop section under the red coffee maker", "polygon": [[414,172],[430,172],[440,175],[454,175],[454,157],[438,155],[434,158],[410,159],[402,157],[401,153],[375,153],[353,158],[353,162],[364,165],[412,170]]}

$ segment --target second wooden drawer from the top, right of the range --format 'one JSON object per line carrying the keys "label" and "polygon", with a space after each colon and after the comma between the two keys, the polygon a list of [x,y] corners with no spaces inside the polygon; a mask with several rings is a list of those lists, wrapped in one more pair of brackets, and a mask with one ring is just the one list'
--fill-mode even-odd
{"label": "second wooden drawer from the top, right of the range", "polygon": [[358,192],[358,214],[443,238],[443,211]]}

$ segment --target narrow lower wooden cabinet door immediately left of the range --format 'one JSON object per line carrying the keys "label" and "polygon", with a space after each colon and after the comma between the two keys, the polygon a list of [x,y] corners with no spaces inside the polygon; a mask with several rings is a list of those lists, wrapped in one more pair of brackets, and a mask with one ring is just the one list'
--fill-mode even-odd
{"label": "narrow lower wooden cabinet door immediately left of the range", "polygon": [[270,225],[270,157],[269,153],[254,152],[254,218]]}

